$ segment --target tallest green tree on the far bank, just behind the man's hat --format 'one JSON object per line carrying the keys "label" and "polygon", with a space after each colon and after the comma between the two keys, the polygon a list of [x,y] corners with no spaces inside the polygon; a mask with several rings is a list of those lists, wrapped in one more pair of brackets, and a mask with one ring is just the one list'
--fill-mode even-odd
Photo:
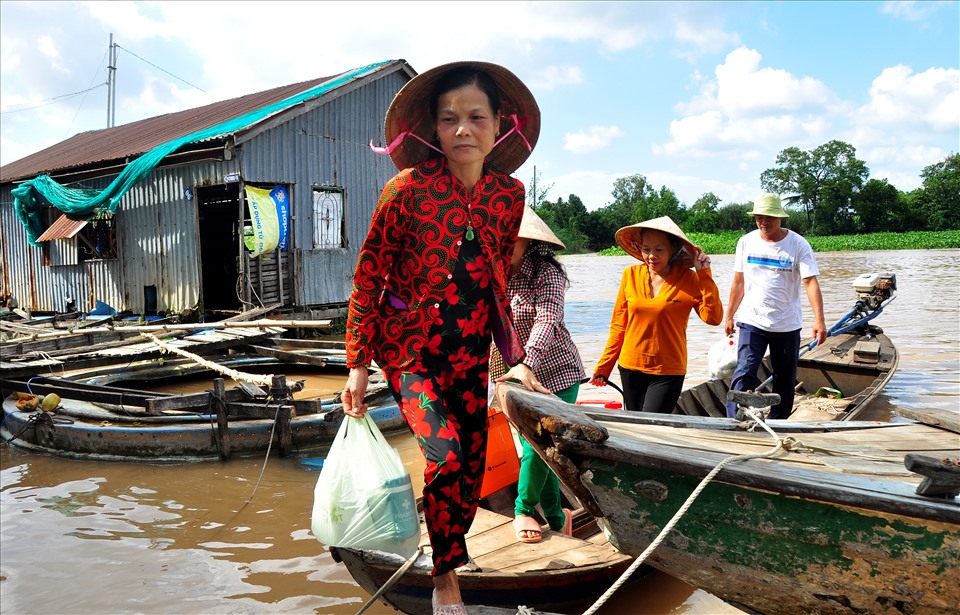
{"label": "tallest green tree on the far bank, just behind the man's hat", "polygon": [[777,167],[760,174],[760,185],[795,198],[811,232],[844,232],[853,224],[853,194],[869,175],[856,153],[852,145],[837,140],[810,151],[788,147],[777,155]]}

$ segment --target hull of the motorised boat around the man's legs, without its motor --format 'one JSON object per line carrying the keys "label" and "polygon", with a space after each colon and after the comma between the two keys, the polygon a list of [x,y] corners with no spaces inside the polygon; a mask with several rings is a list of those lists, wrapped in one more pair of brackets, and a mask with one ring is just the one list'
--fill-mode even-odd
{"label": "hull of the motorised boat around the man's legs, without its motor", "polygon": [[[797,363],[797,395],[791,418],[857,419],[883,391],[898,364],[896,347],[879,327],[867,325],[828,337]],[[763,381],[771,373],[769,358],[764,359],[758,377]],[[725,417],[729,389],[729,378],[708,380],[687,388],[680,395],[673,414]],[[841,397],[822,396],[825,389],[839,391]]]}

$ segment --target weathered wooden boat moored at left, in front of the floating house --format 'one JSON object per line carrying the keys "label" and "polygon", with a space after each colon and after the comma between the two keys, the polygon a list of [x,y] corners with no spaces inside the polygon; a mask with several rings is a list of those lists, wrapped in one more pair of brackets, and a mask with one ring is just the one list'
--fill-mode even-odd
{"label": "weathered wooden boat moored at left, in front of the floating house", "polygon": [[[343,419],[338,395],[301,399],[301,382],[283,373],[323,373],[346,378],[337,350],[289,354],[285,360],[257,354],[215,357],[227,369],[274,375],[269,387],[240,382],[228,388],[208,367],[165,360],[72,373],[69,377],[4,378],[0,437],[11,444],[61,456],[148,462],[185,462],[263,454],[309,453],[329,446]],[[209,378],[197,393],[153,390],[185,378]],[[56,394],[54,412],[23,411],[24,393]],[[379,373],[367,395],[371,416],[385,433],[406,429]]]}

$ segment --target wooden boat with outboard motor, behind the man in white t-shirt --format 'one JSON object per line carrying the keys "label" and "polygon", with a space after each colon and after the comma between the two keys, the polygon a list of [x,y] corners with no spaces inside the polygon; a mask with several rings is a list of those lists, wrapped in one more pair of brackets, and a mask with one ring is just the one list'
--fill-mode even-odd
{"label": "wooden boat with outboard motor, behind the man in white t-shirt", "polygon": [[[899,355],[890,338],[871,321],[895,298],[892,274],[867,274],[854,281],[854,308],[828,329],[821,345],[807,340],[797,363],[797,395],[791,418],[855,420],[879,395],[897,370]],[[758,377],[772,374],[769,357]],[[726,417],[730,378],[685,389],[673,414]],[[758,390],[761,387],[758,387]]]}

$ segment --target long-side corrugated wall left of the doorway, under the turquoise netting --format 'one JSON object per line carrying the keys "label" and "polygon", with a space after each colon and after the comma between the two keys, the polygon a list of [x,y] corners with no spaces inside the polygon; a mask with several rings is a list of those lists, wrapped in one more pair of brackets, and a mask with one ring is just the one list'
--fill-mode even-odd
{"label": "long-side corrugated wall left of the doorway, under the turquoise netting", "polygon": [[[238,170],[236,160],[154,170],[124,196],[117,209],[118,258],[75,265],[43,266],[42,250],[27,243],[13,211],[10,188],[4,187],[0,228],[8,288],[3,292],[18,307],[31,311],[63,312],[72,298],[82,311],[92,310],[99,300],[118,311],[143,314],[144,288],[153,286],[159,312],[196,309],[200,294],[197,206],[195,200],[187,200],[187,189],[222,183],[225,174]],[[83,185],[103,188],[112,179]]]}

